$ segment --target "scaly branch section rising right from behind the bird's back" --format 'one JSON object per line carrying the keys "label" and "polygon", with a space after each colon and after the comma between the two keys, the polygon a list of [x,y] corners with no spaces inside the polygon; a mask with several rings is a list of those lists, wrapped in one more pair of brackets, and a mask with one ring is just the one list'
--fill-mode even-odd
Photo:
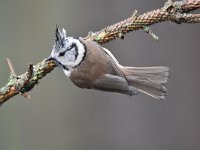
{"label": "scaly branch section rising right from behind the bird's back", "polygon": [[175,23],[200,23],[200,14],[188,14],[200,8],[200,0],[183,0],[172,2],[168,0],[164,7],[149,11],[142,15],[134,14],[119,23],[108,26],[101,31],[88,34],[84,39],[94,40],[100,44],[107,43],[115,38],[120,38],[134,30],[143,29],[155,23],[172,21]]}

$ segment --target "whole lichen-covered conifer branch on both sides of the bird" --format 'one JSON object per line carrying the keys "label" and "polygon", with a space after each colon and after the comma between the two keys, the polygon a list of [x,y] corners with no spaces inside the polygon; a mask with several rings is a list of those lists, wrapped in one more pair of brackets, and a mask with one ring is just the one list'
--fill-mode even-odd
{"label": "whole lichen-covered conifer branch on both sides of the bird", "polygon": [[[164,22],[172,21],[177,24],[181,23],[200,23],[200,14],[189,14],[189,12],[200,8],[200,0],[183,0],[172,2],[168,0],[164,7],[149,11],[142,15],[138,15],[137,11],[134,14],[119,23],[108,26],[98,32],[90,32],[84,40],[93,40],[99,44],[107,43],[116,38],[124,38],[124,35],[138,29],[142,29],[149,33],[154,39],[158,37],[150,30],[149,26]],[[12,65],[9,65],[10,69]],[[11,97],[17,94],[23,94],[31,89],[42,79],[46,74],[51,72],[56,67],[54,61],[45,61],[37,65],[29,65],[28,71],[20,76],[16,76],[12,72],[8,83],[0,89],[0,104],[5,103]]]}

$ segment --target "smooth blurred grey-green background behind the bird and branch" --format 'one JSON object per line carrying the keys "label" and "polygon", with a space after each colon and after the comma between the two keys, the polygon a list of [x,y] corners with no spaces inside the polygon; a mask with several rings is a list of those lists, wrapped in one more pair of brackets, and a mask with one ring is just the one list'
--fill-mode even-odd
{"label": "smooth blurred grey-green background behind the bird and branch", "polygon": [[[47,57],[56,24],[86,36],[162,7],[160,0],[0,0],[0,86],[11,58],[18,74]],[[200,149],[200,26],[165,22],[104,45],[129,66],[169,66],[167,101],[83,90],[56,68],[30,92],[0,108],[0,150]]]}

